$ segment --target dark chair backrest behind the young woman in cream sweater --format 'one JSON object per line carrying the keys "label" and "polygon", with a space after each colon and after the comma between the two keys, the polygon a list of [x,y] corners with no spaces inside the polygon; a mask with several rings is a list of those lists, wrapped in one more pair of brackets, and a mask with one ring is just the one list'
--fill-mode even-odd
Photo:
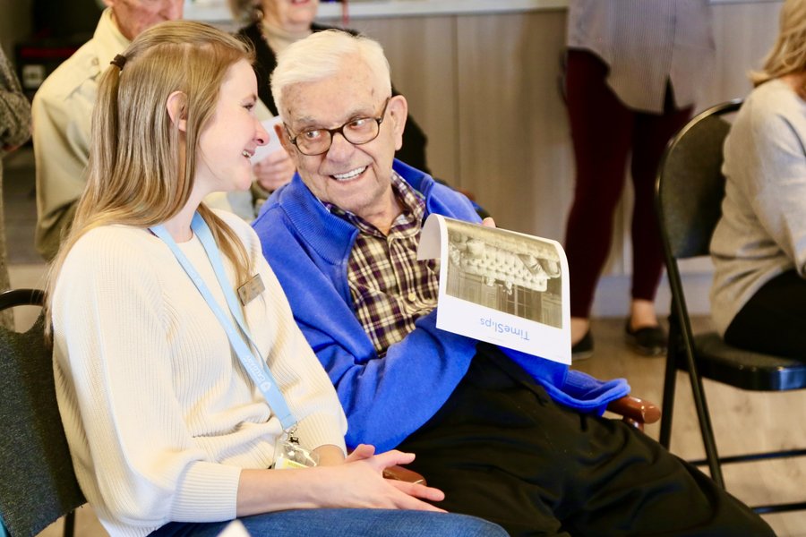
{"label": "dark chair backrest behind the young woman in cream sweater", "polygon": [[[40,291],[0,294],[0,309],[41,305]],[[25,333],[0,327],[0,516],[12,537],[35,535],[86,500],[56,405],[44,317]]]}

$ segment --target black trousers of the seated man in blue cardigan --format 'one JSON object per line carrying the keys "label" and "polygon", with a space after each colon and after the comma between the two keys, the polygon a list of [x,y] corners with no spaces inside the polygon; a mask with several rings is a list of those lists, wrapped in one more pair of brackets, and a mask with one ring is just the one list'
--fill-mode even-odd
{"label": "black trousers of the seated man in blue cardigan", "polygon": [[555,404],[492,345],[399,449],[445,491],[440,507],[512,535],[774,535],[644,433]]}

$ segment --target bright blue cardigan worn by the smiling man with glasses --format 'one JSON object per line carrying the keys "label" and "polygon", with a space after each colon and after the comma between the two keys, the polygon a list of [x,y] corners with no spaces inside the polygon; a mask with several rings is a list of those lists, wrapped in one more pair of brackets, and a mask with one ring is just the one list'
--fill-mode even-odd
{"label": "bright blue cardigan worn by the smiling man with glasses", "polygon": [[[466,197],[396,160],[394,169],[425,198],[431,213],[478,222]],[[297,324],[330,375],[347,413],[347,445],[396,447],[445,403],[476,354],[476,340],[436,328],[436,311],[386,354],[356,319],[347,286],[347,261],[358,230],[335,217],[299,175],[266,201],[253,222],[287,294]],[[582,412],[602,413],[630,387],[623,379],[602,382],[538,356],[502,349],[552,398]]]}

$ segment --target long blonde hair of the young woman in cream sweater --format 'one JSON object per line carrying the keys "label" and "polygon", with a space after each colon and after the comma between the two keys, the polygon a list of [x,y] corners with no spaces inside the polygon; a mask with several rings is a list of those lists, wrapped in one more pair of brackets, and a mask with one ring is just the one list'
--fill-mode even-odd
{"label": "long blonde hair of the young woman in cream sweater", "polygon": [[[48,320],[59,271],[83,234],[114,224],[145,229],[184,207],[193,190],[199,138],[214,113],[227,70],[241,60],[252,63],[253,52],[243,41],[207,24],[168,21],[142,32],[123,57],[116,57],[122,68],[110,65],[100,78],[89,179],[47,276]],[[180,132],[166,106],[176,91],[184,94],[184,162]],[[243,243],[203,203],[199,213],[235,266],[237,285],[242,285],[251,270]],[[46,329],[49,335],[49,322]]]}

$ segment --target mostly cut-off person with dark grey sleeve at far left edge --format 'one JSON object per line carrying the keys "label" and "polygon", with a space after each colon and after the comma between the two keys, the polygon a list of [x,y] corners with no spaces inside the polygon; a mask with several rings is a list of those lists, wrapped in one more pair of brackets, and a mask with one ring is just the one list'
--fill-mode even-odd
{"label": "mostly cut-off person with dark grey sleeve at far left edge", "polygon": [[[20,81],[0,48],[0,159],[30,138],[30,104]],[[5,254],[5,215],[3,208],[3,161],[0,160],[0,291],[11,287]],[[0,325],[14,328],[11,310],[0,311]]]}

